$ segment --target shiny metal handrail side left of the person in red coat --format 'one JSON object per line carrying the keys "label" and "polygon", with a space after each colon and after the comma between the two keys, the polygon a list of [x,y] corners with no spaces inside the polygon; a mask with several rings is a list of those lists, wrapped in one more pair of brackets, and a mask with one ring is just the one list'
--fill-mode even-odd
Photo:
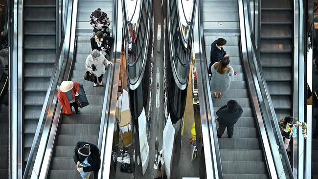
{"label": "shiny metal handrail side left of the person in red coat", "polygon": [[[67,66],[66,63],[68,61],[68,54],[70,52],[70,42],[71,42],[71,36],[72,36],[70,32],[72,28],[71,23],[72,21],[74,21],[74,19],[76,20],[76,16],[72,16],[72,15],[68,16],[68,14],[73,13],[74,1],[77,1],[77,0],[67,0],[65,5],[64,22],[66,22],[66,24],[63,25],[61,43],[59,45],[59,50],[58,50],[55,64],[52,70],[52,75],[50,78],[48,90],[46,91],[44,105],[41,111],[36,133],[32,142],[31,151],[28,156],[27,164],[24,170],[23,179],[28,178],[31,163],[32,163],[32,158],[34,157],[34,154],[35,154],[35,150],[37,147],[36,144],[38,143],[38,140],[39,140],[39,135],[40,135],[43,122],[45,122],[45,126],[41,136],[40,145],[38,148],[36,159],[35,159],[33,168],[31,170],[32,172],[31,178],[34,178],[34,177],[38,178],[38,174],[40,174],[42,164],[43,162],[45,162],[44,155],[46,153],[45,148],[47,147],[46,141],[48,140],[49,133],[51,132],[50,129],[52,126],[53,117],[55,117],[54,114],[56,114],[56,112],[58,111],[57,110],[58,103],[56,102],[57,91],[59,87],[58,84],[61,80],[63,80],[64,71]],[[53,87],[53,84],[54,84],[54,87]]]}

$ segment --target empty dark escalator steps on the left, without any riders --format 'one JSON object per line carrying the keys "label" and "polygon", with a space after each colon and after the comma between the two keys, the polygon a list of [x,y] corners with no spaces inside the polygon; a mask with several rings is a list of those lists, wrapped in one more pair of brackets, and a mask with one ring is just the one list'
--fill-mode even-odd
{"label": "empty dark escalator steps on the left, without any riders", "polygon": [[23,1],[23,170],[45,101],[56,53],[55,0]]}

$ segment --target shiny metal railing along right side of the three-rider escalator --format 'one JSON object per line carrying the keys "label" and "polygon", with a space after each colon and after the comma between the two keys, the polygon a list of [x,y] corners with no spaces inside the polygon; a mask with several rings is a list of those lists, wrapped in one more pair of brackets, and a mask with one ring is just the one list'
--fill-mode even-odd
{"label": "shiny metal railing along right side of the three-rider escalator", "polygon": [[[243,16],[240,15],[240,22],[243,21],[241,24],[241,37],[245,36],[246,38],[246,50],[247,50],[247,65],[250,68],[252,82],[255,89],[255,94],[257,96],[259,110],[261,112],[263,118],[263,127],[266,132],[263,138],[263,142],[266,141],[264,144],[265,146],[265,153],[267,158],[267,163],[269,167],[270,174],[272,178],[293,178],[293,172],[291,165],[288,160],[287,153],[285,151],[284,142],[280,133],[280,128],[278,125],[278,121],[276,119],[272,99],[270,96],[270,92],[267,87],[267,83],[265,80],[265,76],[261,67],[261,62],[259,59],[259,54],[256,49],[255,39],[252,30],[252,22],[251,22],[251,14],[250,14],[250,1],[249,0],[239,0],[239,7],[241,11],[244,8]],[[243,13],[243,12],[242,12]],[[245,34],[242,32],[245,31]],[[242,45],[244,45],[242,43]],[[245,60],[245,59],[244,59]],[[256,97],[255,96],[255,97]],[[262,130],[261,130],[262,132]],[[263,135],[263,133],[261,134]],[[266,139],[266,138],[267,139]],[[268,151],[266,148],[270,147]],[[271,152],[270,152],[271,151]],[[270,156],[271,155],[271,156]],[[270,160],[268,160],[270,158]],[[273,160],[273,161],[272,161]],[[274,166],[273,166],[274,164]],[[275,168],[273,168],[275,167]],[[274,172],[275,170],[275,172]]]}

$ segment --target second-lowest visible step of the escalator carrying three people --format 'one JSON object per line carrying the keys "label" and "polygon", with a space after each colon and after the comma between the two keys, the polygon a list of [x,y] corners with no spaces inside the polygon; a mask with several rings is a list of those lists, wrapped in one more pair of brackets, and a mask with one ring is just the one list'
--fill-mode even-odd
{"label": "second-lowest visible step of the escalator carrying three people", "polygon": [[225,174],[267,174],[267,169],[264,162],[222,161],[222,172]]}

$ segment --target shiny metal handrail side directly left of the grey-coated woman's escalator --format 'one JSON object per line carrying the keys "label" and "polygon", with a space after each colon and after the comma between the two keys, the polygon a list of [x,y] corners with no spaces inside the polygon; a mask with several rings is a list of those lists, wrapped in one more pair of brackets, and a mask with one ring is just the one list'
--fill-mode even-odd
{"label": "shiny metal handrail side directly left of the grey-coated woman's escalator", "polygon": [[[202,128],[206,128],[206,130],[202,130],[203,141],[204,141],[203,146],[204,146],[204,157],[205,157],[205,171],[206,171],[207,179],[212,179],[212,178],[223,179],[219,141],[217,138],[216,130],[213,130],[213,129],[216,129],[216,120],[214,115],[212,94],[210,92],[211,89],[210,89],[209,76],[207,73],[208,66],[207,66],[206,56],[205,56],[202,9],[203,9],[202,1],[197,0],[197,9],[196,9],[197,18],[195,19],[195,25],[194,25],[194,37],[197,37],[198,39],[194,38],[194,49],[195,49],[195,59],[196,59],[195,61],[196,61],[196,70],[197,70],[201,121],[202,123],[204,123],[204,125],[202,125],[203,126]],[[199,61],[198,64],[197,64],[197,61]],[[199,83],[200,78],[201,78],[201,83]],[[203,109],[202,111],[201,111],[201,108]]]}

